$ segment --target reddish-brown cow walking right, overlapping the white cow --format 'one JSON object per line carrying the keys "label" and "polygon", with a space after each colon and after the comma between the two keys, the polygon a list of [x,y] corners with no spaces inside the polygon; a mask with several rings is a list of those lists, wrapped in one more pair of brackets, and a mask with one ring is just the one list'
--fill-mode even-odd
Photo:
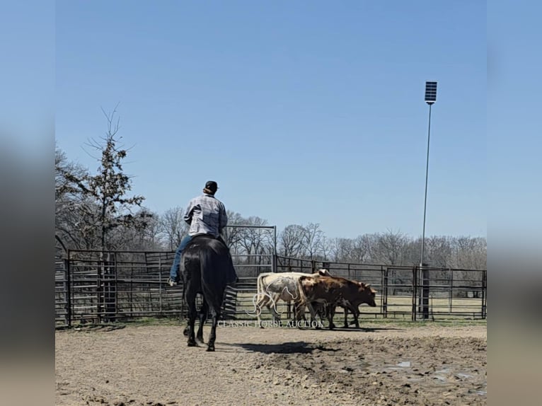
{"label": "reddish-brown cow walking right, overlapping the white cow", "polygon": [[[304,306],[311,312],[311,322],[316,318],[316,312],[311,303],[326,303],[329,311],[326,316],[329,321],[330,329],[333,329],[333,316],[335,315],[335,306],[345,308],[354,315],[356,327],[359,328],[359,305],[367,303],[371,307],[376,307],[374,297],[376,291],[369,284],[355,282],[342,277],[300,277],[299,278],[301,306],[300,311],[304,311]],[[299,317],[299,315],[298,315]]]}

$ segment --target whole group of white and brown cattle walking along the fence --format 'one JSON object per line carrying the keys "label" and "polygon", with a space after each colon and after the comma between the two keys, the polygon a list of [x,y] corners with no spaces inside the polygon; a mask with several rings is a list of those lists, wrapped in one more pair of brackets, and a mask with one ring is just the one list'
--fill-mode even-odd
{"label": "whole group of white and brown cattle walking along the fence", "polygon": [[356,282],[342,277],[332,276],[327,269],[318,269],[314,274],[301,272],[266,272],[258,275],[258,293],[256,296],[256,314],[258,325],[262,327],[260,314],[265,306],[279,321],[277,301],[293,302],[296,321],[305,318],[306,309],[311,315],[311,325],[318,315],[323,321],[327,318],[330,329],[333,329],[335,308],[345,309],[345,327],[348,327],[348,312],[354,315],[354,323],[359,327],[359,306],[367,303],[375,307],[376,291],[369,284]]}

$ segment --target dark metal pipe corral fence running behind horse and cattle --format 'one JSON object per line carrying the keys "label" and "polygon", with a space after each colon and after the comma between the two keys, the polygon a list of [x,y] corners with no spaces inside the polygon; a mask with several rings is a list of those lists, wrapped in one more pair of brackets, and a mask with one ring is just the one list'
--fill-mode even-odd
{"label": "dark metal pipe corral fence running behind horse and cattle", "polygon": [[[130,318],[175,316],[188,308],[183,286],[166,281],[175,253],[164,251],[67,250],[55,267],[55,325],[104,323]],[[239,282],[228,286],[223,318],[255,320],[256,279],[262,272],[328,269],[334,276],[371,284],[376,308],[362,317],[436,320],[487,317],[487,270],[399,267],[323,262],[280,255],[232,255]],[[289,318],[292,308],[280,303]],[[338,314],[340,310],[338,309]],[[263,311],[267,317],[269,312]],[[264,317],[264,318],[265,318]]]}

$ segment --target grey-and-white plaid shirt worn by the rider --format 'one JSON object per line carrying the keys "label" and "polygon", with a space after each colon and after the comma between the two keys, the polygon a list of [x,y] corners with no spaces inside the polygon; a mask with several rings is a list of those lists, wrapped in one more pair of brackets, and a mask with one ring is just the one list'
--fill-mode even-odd
{"label": "grey-and-white plaid shirt worn by the rider", "polygon": [[190,200],[185,212],[185,221],[190,224],[188,235],[211,234],[217,238],[228,224],[224,204],[212,195],[204,193]]}

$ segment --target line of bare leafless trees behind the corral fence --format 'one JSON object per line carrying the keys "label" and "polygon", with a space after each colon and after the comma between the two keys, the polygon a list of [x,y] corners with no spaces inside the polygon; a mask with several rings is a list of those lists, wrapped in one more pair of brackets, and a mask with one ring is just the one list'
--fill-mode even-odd
{"label": "line of bare leafless trees behind the corral fence", "polygon": [[[132,180],[122,167],[128,150],[120,146],[115,111],[105,114],[105,136],[88,141],[100,165],[96,173],[55,149],[55,233],[72,249],[175,250],[188,233],[183,207],[158,214],[144,207],[144,197],[131,195]],[[243,217],[228,210],[229,224],[270,226],[258,216]],[[328,262],[419,265],[421,238],[400,231],[366,233],[356,238],[328,238],[320,224],[290,224],[277,230],[279,255]],[[271,254],[271,228],[229,227],[224,238],[232,253]],[[425,262],[433,267],[485,269],[487,242],[483,237],[429,236]]]}

